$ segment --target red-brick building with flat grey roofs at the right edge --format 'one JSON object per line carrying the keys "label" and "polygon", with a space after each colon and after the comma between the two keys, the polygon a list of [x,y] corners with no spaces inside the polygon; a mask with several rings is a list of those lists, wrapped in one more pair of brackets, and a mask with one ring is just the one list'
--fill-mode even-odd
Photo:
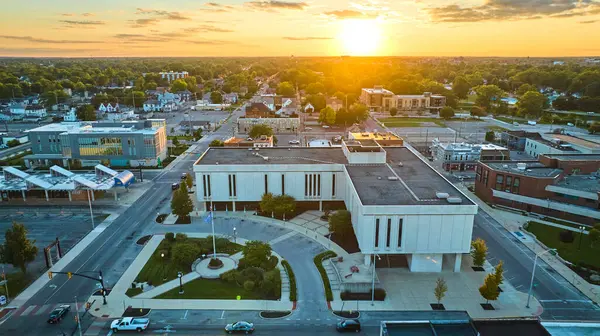
{"label": "red-brick building with flat grey roofs at the right edge", "polygon": [[547,154],[539,161],[479,162],[475,194],[483,201],[580,223],[600,219],[600,155]]}

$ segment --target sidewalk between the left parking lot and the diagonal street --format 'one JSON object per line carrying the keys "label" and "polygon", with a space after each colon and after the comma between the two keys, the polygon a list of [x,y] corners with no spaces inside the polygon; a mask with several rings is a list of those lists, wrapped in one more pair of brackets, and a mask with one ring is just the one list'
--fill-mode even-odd
{"label": "sidewalk between the left parking lot and the diagonal street", "polygon": [[[67,252],[59,261],[56,262],[50,268],[49,271],[61,272],[64,268],[75,259],[79,253],[85,250],[106,228],[108,228],[113,221],[119,217],[119,214],[111,214],[102,223],[100,223],[94,230],[88,233],[77,245]],[[9,304],[9,307],[20,307],[31,299],[40,289],[44,288],[50,279],[46,272],[42,274],[37,280],[35,280],[29,287],[21,292],[16,298],[14,298]]]}

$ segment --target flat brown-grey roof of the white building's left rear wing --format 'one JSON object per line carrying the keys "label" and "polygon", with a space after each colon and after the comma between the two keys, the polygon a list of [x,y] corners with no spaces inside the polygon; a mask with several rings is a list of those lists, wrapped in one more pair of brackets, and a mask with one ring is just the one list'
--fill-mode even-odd
{"label": "flat brown-grey roof of the white building's left rear wing", "polygon": [[[255,155],[258,153],[259,155]],[[268,157],[265,161],[263,157]],[[275,147],[248,148],[211,147],[196,162],[197,165],[256,165],[256,164],[347,164],[341,147]]]}

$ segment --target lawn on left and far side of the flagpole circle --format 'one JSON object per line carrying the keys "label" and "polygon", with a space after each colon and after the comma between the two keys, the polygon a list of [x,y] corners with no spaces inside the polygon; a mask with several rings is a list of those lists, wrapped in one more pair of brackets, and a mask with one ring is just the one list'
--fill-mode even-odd
{"label": "lawn on left and far side of the flagpole circle", "polygon": [[[223,241],[223,243],[217,244],[217,252],[218,253],[227,253],[227,254],[235,254],[241,251],[242,246],[239,244],[235,244],[230,241],[226,241],[224,238],[218,238],[218,240]],[[212,251],[212,243],[207,242],[206,239],[202,238],[188,238],[188,242],[197,243],[203,246],[202,249]],[[183,272],[184,274],[189,273],[191,271],[192,265],[176,265],[171,262],[169,255],[170,249],[174,243],[170,243],[166,239],[163,240],[160,245],[156,248],[156,251],[152,254],[150,259],[144,268],[140,271],[138,276],[136,277],[137,282],[150,282],[153,286],[162,285],[165,282],[171,281],[177,278],[177,272]],[[208,246],[206,246],[208,245]],[[221,246],[221,248],[219,248]],[[161,257],[161,253],[165,253],[165,257]],[[200,257],[200,256],[198,256]],[[163,279],[167,280],[163,280]]]}

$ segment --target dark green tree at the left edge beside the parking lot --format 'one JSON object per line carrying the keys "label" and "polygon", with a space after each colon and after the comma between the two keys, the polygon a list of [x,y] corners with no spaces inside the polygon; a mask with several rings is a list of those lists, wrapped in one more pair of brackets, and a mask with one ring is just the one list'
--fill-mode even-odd
{"label": "dark green tree at the left edge beside the parking lot", "polygon": [[35,240],[27,239],[27,228],[17,222],[6,230],[4,238],[4,244],[0,245],[0,261],[18,267],[26,274],[27,264],[35,260],[38,251]]}

